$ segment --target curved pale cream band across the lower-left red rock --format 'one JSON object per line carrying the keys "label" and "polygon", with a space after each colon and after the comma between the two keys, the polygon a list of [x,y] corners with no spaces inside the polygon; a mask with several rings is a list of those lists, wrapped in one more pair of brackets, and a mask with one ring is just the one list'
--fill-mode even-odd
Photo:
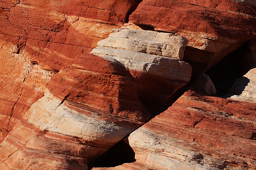
{"label": "curved pale cream band across the lower-left red rock", "polygon": [[[105,114],[68,100],[62,103],[47,91],[44,97],[30,107],[24,118],[41,130],[81,138],[96,145],[104,144],[104,147],[116,144],[134,130],[134,127],[102,120],[102,115],[109,117],[109,120],[114,118],[111,114]],[[120,119],[122,121],[121,117]],[[138,124],[132,121],[130,123]]]}

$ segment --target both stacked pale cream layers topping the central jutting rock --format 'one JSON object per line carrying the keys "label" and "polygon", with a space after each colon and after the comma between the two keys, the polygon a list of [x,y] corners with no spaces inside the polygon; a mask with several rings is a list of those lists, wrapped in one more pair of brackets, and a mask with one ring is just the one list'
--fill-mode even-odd
{"label": "both stacked pale cream layers topping the central jutting rock", "polygon": [[[191,66],[181,61],[188,40],[170,33],[113,29],[91,54],[114,58],[129,70],[188,82]],[[168,54],[167,54],[168,53]],[[167,56],[167,57],[166,57]]]}

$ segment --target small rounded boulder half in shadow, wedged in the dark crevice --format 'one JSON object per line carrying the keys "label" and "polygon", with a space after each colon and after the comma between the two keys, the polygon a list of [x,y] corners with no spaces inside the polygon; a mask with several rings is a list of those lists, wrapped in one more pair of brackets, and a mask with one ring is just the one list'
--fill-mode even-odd
{"label": "small rounded boulder half in shadow, wedged in the dark crevice", "polygon": [[206,95],[215,95],[217,90],[212,83],[212,80],[205,73],[201,73],[196,81],[190,86],[194,91],[200,92]]}

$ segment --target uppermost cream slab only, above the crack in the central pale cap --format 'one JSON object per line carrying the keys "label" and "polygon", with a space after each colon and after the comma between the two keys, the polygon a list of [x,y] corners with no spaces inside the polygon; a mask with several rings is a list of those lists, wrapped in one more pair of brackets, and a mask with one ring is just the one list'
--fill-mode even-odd
{"label": "uppermost cream slab only, above the crack in the central pale cap", "polygon": [[113,32],[97,45],[182,59],[184,48],[188,44],[186,38],[171,33],[132,29],[113,29]]}

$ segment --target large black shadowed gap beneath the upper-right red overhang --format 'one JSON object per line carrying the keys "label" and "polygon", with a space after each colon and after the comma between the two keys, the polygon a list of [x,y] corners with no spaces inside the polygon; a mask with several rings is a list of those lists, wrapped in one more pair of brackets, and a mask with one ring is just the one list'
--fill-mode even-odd
{"label": "large black shadowed gap beneath the upper-right red overhang", "polygon": [[[249,51],[248,42],[245,42],[238,50],[230,53],[212,69],[205,72],[215,85],[217,96],[225,96],[236,79],[244,76],[252,68],[253,62],[247,56]],[[244,89],[241,88],[239,91],[241,90]]]}

